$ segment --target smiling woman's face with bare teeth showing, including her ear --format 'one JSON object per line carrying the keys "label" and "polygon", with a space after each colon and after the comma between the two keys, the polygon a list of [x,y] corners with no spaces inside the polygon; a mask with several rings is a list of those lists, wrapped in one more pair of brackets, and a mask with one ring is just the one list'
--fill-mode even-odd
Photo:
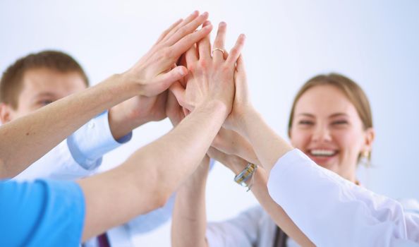
{"label": "smiling woman's face with bare teeth showing, including her ear", "polygon": [[371,150],[374,131],[365,130],[356,107],[333,85],[315,85],[296,102],[291,143],[320,166],[356,181],[360,153]]}

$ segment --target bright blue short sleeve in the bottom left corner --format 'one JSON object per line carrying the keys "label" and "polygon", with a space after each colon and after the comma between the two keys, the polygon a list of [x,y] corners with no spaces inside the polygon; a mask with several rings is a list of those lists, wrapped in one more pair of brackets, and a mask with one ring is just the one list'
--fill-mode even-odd
{"label": "bright blue short sleeve in the bottom left corner", "polygon": [[77,183],[0,182],[0,246],[78,246],[84,218]]}

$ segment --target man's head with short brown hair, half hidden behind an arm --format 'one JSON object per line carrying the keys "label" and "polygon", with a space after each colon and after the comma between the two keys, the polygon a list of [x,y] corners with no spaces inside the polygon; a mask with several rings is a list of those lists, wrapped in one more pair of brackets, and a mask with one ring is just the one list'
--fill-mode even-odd
{"label": "man's head with short brown hair, half hidden behind an arm", "polygon": [[0,80],[0,120],[7,123],[89,85],[68,54],[44,51],[18,59]]}

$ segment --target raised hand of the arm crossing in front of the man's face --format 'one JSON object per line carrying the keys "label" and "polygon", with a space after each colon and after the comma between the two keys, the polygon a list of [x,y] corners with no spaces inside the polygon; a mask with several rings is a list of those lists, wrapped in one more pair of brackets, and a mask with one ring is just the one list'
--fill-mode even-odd
{"label": "raised hand of the arm crossing in front of the man's face", "polygon": [[198,11],[194,11],[185,20],[176,21],[137,64],[122,74],[123,79],[140,85],[138,95],[152,97],[164,92],[188,73],[184,66],[174,64],[189,47],[211,32],[212,25],[195,32],[207,18],[207,12],[198,16]]}

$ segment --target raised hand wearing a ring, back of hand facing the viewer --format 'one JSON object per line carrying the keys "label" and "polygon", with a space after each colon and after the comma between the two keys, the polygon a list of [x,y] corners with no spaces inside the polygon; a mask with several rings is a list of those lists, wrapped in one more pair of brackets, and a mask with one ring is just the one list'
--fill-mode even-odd
{"label": "raised hand wearing a ring, back of hand facing the viewer", "polygon": [[[210,25],[205,22],[203,27]],[[219,30],[214,42],[213,56],[209,36],[203,38],[196,46],[190,47],[185,54],[188,76],[186,89],[179,82],[171,86],[176,98],[182,107],[193,111],[195,107],[208,100],[217,100],[231,112],[234,96],[234,71],[236,61],[241,54],[245,36],[240,35],[231,49],[229,56],[224,56],[224,40],[226,23],[219,24]]]}

